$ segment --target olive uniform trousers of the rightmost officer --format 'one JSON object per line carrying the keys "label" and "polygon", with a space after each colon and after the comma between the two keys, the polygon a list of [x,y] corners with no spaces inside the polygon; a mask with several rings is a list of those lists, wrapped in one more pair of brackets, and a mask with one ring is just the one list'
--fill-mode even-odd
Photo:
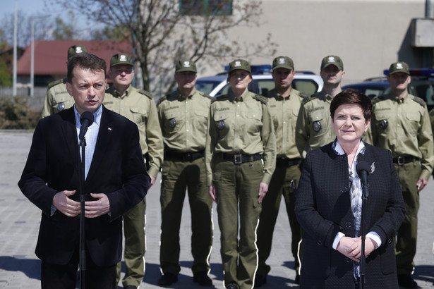
{"label": "olive uniform trousers of the rightmost officer", "polygon": [[[414,270],[414,256],[418,233],[419,193],[416,182],[421,176],[421,164],[413,161],[397,168],[399,183],[405,203],[405,219],[398,229],[395,255],[397,257],[398,274],[410,275]],[[369,202],[369,198],[368,198]]]}

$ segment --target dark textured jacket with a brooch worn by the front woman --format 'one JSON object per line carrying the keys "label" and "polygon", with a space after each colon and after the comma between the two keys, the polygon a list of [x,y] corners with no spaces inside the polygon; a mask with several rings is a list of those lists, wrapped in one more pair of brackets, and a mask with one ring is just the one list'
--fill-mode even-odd
{"label": "dark textured jacket with a brooch worn by the front woman", "polygon": [[[358,161],[375,166],[368,176],[366,233],[378,233],[382,242],[366,258],[365,288],[398,288],[393,238],[405,214],[402,191],[390,151],[365,146]],[[355,236],[348,168],[346,154],[335,154],[332,143],[309,152],[303,163],[296,193],[296,216],[305,230],[302,288],[354,288],[351,259],[332,248],[339,231]]]}

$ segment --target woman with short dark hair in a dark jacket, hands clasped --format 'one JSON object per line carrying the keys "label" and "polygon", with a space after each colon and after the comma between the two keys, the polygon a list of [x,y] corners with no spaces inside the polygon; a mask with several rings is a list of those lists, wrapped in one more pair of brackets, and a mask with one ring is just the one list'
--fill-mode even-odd
{"label": "woman with short dark hair in a dark jacket, hands clasped", "polygon": [[354,90],[330,105],[334,142],[308,153],[296,194],[305,230],[301,288],[354,288],[360,282],[360,161],[368,162],[365,288],[398,288],[393,238],[405,207],[390,151],[364,143],[372,104]]}

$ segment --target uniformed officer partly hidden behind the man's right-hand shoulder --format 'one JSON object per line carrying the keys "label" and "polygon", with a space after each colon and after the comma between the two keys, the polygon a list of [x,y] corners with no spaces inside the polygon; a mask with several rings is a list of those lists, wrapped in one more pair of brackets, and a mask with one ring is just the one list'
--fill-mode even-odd
{"label": "uniformed officer partly hidden behind the man's right-hand shoulder", "polygon": [[[149,92],[131,86],[134,63],[128,54],[115,54],[110,59],[109,78],[113,81],[106,90],[104,106],[133,121],[140,133],[140,147],[147,164],[151,184],[155,183],[163,161],[163,140],[159,128],[154,98]],[[136,289],[145,275],[145,211],[146,199],[123,215],[125,236],[124,260],[126,273],[123,288]],[[117,279],[121,276],[118,264]]]}

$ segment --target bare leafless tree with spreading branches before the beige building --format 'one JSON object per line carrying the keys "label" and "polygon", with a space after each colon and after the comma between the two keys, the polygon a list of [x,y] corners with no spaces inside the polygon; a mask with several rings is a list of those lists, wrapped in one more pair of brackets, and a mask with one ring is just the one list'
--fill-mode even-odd
{"label": "bare leafless tree with spreading branches before the beige building", "polygon": [[[240,4],[228,0],[46,1],[49,3],[47,6],[60,4],[96,23],[121,31],[126,29],[128,35],[124,37],[133,45],[145,90],[150,90],[152,80],[171,90],[174,86],[171,77],[174,61],[179,58],[221,66],[235,56],[247,58],[275,53],[270,47],[276,47],[276,44],[270,43],[270,36],[255,39],[255,44],[228,41],[229,29],[259,25],[260,0],[242,0]],[[229,13],[221,13],[228,4]],[[193,15],[186,15],[190,13]]]}

